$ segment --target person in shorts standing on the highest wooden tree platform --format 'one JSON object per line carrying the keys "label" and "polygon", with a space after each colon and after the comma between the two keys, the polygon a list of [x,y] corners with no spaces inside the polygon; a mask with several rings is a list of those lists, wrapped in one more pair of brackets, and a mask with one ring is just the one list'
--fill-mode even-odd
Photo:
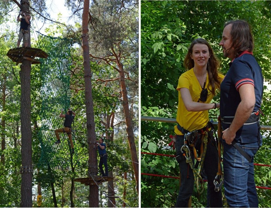
{"label": "person in shorts standing on the highest wooden tree platform", "polygon": [[[22,18],[20,18],[20,15],[22,15]],[[28,26],[30,25],[30,19],[31,16],[25,15],[24,12],[20,12],[17,21],[20,22],[20,33],[19,33],[19,39],[17,42],[17,47],[20,47],[21,40],[23,38],[23,46],[27,47],[28,46],[28,41],[29,41],[29,34],[28,34]]]}

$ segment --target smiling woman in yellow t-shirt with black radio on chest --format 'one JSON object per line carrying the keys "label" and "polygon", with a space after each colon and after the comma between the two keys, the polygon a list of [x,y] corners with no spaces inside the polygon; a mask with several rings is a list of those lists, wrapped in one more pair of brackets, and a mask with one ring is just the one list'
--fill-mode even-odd
{"label": "smiling woman in yellow t-shirt with black radio on chest", "polygon": [[[219,108],[219,103],[210,103],[215,91],[220,89],[223,75],[218,73],[219,60],[214,56],[210,44],[202,38],[195,39],[187,52],[184,60],[184,72],[178,81],[178,110],[176,133],[176,159],[181,173],[181,185],[176,201],[176,207],[188,207],[189,197],[194,186],[193,172],[181,147],[184,145],[184,134],[194,130],[198,132],[208,131],[208,143],[203,168],[208,179],[208,205],[209,207],[222,207],[221,190],[214,190],[214,178],[218,171],[217,145],[210,125],[208,125],[208,110]],[[201,129],[203,131],[201,131]],[[202,134],[199,134],[195,143],[195,149],[200,151]],[[189,144],[187,144],[189,146]],[[193,151],[191,158],[194,159]],[[178,156],[178,157],[177,157]]]}

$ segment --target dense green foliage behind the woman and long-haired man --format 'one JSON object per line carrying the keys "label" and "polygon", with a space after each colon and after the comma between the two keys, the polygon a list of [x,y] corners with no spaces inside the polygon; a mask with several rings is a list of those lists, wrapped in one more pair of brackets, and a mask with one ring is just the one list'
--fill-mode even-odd
{"label": "dense green foliage behind the woman and long-haired man", "polygon": [[[218,44],[224,23],[232,19],[244,19],[251,24],[255,42],[253,54],[263,70],[265,81],[271,83],[270,17],[270,1],[141,1],[141,115],[176,118],[178,78],[185,71],[183,60],[187,47],[197,37],[203,37],[211,44],[221,61],[220,71],[226,74],[229,60],[223,57]],[[264,92],[262,110],[266,116],[261,118],[261,125],[270,125],[270,96],[269,91]],[[214,102],[217,101],[219,95],[214,97]],[[209,115],[210,119],[217,121],[219,109],[210,110]],[[171,141],[169,135],[174,133],[174,125],[141,121],[141,151],[175,154],[175,151],[165,148]],[[266,136],[264,146],[254,161],[269,164],[271,132],[262,131],[262,134]],[[161,156],[142,154],[141,172],[178,175],[178,163],[175,168],[169,168],[172,158],[166,157],[165,160]],[[167,165],[162,165],[161,161]],[[256,183],[271,187],[268,174],[269,168],[255,167]],[[171,187],[159,183],[159,177],[142,175],[141,179],[142,207],[174,206],[178,180],[167,179],[176,181],[176,187]],[[173,193],[169,201],[163,191]],[[257,192],[260,206],[270,207],[270,191],[257,189]],[[205,193],[200,198],[193,193],[192,206],[205,207]]]}

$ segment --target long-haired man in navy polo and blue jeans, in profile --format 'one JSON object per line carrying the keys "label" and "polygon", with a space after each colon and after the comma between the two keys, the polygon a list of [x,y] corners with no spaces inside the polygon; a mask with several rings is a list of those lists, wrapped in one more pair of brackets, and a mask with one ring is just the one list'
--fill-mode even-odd
{"label": "long-haired man in navy polo and blue jeans, in profile", "polygon": [[232,60],[220,87],[225,196],[229,207],[259,207],[253,159],[262,140],[263,76],[252,53],[249,24],[244,20],[227,22],[219,45]]}

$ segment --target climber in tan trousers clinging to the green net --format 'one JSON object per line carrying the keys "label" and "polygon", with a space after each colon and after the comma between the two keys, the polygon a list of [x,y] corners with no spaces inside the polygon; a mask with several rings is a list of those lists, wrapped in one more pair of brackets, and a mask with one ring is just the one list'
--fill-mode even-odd
{"label": "climber in tan trousers clinging to the green net", "polygon": [[54,133],[57,136],[57,141],[55,142],[55,144],[61,143],[60,137],[59,137],[59,132],[67,133],[70,144],[71,144],[71,153],[73,154],[74,153],[74,143],[72,142],[72,138],[71,138],[71,130],[72,130],[71,129],[71,124],[72,124],[72,122],[74,120],[75,113],[71,109],[68,109],[67,114],[63,114],[63,111],[64,110],[61,110],[61,113],[60,113],[59,117],[65,118],[64,128],[56,129],[54,131]]}

